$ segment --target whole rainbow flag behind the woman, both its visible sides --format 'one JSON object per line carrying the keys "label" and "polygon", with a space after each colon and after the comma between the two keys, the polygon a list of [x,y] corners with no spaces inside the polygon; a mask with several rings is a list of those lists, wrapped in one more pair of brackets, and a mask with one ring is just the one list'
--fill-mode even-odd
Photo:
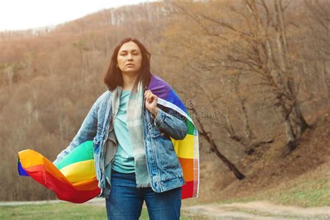
{"label": "whole rainbow flag behind the woman, both its visible sides", "polygon": [[[157,104],[174,109],[187,118],[187,136],[183,140],[171,141],[186,182],[182,186],[181,198],[196,198],[199,186],[198,130],[183,102],[166,81],[152,74],[148,89],[157,95]],[[18,155],[19,175],[31,176],[52,189],[60,200],[84,203],[100,194],[94,166],[93,141],[81,143],[56,166],[34,150],[23,150]]]}

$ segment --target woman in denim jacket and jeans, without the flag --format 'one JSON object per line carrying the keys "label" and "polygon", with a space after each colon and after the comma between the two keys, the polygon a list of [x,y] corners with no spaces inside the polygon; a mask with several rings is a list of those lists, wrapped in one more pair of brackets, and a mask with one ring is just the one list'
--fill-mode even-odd
{"label": "woman in denim jacket and jeans, without the flag", "polygon": [[150,219],[179,219],[182,167],[172,139],[184,139],[184,116],[157,105],[147,90],[150,54],[126,38],[113,50],[104,76],[108,91],[93,104],[79,132],[57,162],[86,140],[94,141],[95,171],[108,219],[139,219],[146,201]]}

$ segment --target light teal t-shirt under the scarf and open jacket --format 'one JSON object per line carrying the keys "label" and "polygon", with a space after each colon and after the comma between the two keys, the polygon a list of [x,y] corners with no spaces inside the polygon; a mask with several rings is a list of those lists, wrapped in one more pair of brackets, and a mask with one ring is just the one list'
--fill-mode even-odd
{"label": "light teal t-shirt under the scarf and open jacket", "polygon": [[129,131],[126,124],[127,102],[130,91],[122,91],[120,104],[116,117],[113,120],[113,129],[118,140],[118,150],[113,160],[113,170],[120,173],[134,173],[134,155],[129,139]]}

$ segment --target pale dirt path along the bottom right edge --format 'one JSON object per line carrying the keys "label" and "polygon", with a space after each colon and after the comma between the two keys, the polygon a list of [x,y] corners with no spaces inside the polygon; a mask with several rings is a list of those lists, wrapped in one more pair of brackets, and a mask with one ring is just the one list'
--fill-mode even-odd
{"label": "pale dirt path along the bottom right edge", "polygon": [[267,201],[182,207],[191,219],[330,219],[330,207],[275,205]]}

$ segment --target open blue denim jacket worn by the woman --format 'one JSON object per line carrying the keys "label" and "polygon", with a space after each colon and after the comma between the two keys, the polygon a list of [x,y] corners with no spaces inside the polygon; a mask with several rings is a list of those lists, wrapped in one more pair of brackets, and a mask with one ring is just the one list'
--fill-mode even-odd
{"label": "open blue denim jacket worn by the woman", "polygon": [[[65,155],[68,155],[81,143],[93,140],[95,172],[98,187],[101,189],[99,196],[102,197],[109,196],[104,175],[106,141],[108,138],[113,141],[113,149],[108,149],[111,151],[111,162],[113,162],[113,155],[116,154],[116,136],[114,136],[111,119],[112,111],[117,112],[118,109],[112,109],[111,101],[111,91],[105,91],[97,98],[70,145],[54,161],[54,164],[60,162]],[[184,139],[187,135],[187,125],[184,117],[180,116],[175,110],[159,104],[157,104],[157,107],[159,110],[154,118],[143,103],[143,133],[151,187],[153,191],[163,192],[185,184],[182,167],[173,148],[171,138],[175,140]],[[107,153],[108,156],[109,152]],[[108,180],[108,182],[110,181]]]}

